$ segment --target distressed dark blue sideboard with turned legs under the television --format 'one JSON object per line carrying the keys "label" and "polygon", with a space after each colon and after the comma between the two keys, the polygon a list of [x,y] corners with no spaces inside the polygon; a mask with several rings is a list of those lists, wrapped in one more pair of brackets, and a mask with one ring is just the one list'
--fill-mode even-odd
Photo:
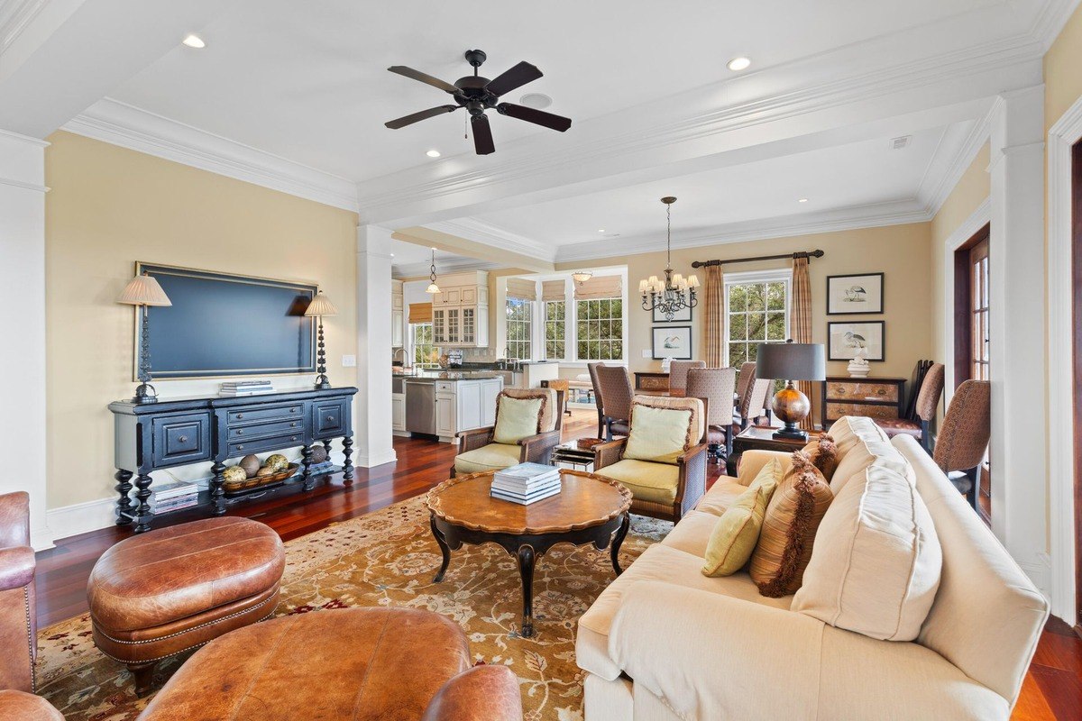
{"label": "distressed dark blue sideboard with turned legs under the television", "polygon": [[[177,398],[157,403],[109,403],[116,429],[117,524],[150,530],[154,513],[150,471],[212,460],[211,510],[225,512],[222,472],[226,458],[304,446],[302,483],[315,488],[309,472],[312,446],[342,439],[342,478],[353,482],[353,396],[356,388],[300,390],[247,398]],[[135,477],[134,486],[131,483]],[[135,488],[135,500],[129,497]]]}

